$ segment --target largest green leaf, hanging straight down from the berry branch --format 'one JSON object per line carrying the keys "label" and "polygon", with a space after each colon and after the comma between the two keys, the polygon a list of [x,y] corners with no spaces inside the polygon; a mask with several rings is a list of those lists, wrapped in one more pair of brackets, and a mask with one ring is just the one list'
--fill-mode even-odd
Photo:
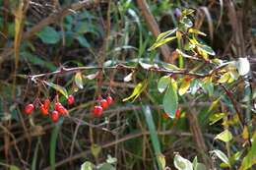
{"label": "largest green leaf, hanging straight down from the berry branch", "polygon": [[172,119],[175,118],[175,112],[178,108],[178,95],[175,84],[176,83],[174,80],[172,80],[163,96],[162,101],[164,112],[167,113]]}

